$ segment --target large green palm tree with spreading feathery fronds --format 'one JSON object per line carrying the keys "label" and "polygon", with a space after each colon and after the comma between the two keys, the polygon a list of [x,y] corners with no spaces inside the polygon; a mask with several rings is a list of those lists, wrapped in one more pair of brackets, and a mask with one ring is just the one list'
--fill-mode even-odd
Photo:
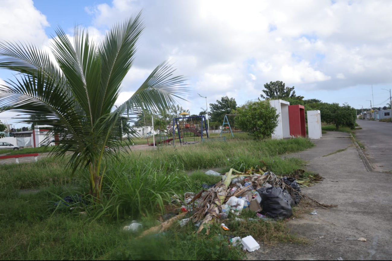
{"label": "large green palm tree with spreading feathery fronds", "polygon": [[[0,68],[18,75],[0,87],[0,112],[41,115],[23,121],[53,126],[58,137],[54,157],[71,153],[72,173],[85,167],[90,193],[100,197],[106,159],[118,159],[123,121],[143,111],[160,112],[187,92],[182,76],[167,62],[158,65],[136,92],[114,108],[122,81],[132,67],[144,28],[141,13],[117,23],[100,43],[75,26],[74,42],[58,27],[49,54],[31,44],[0,43]],[[127,133],[131,139],[130,131]]]}

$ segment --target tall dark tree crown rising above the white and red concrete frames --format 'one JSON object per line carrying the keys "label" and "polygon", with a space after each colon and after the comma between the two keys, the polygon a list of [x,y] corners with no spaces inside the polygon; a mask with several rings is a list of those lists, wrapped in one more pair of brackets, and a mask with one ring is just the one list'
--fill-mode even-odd
{"label": "tall dark tree crown rising above the white and red concrete frames", "polygon": [[294,86],[285,87],[285,83],[282,81],[274,81],[270,83],[266,83],[264,85],[265,90],[263,90],[265,96],[260,94],[260,97],[263,99],[276,100],[276,99],[287,99],[294,98],[298,100],[302,100],[303,96],[297,96],[294,91]]}

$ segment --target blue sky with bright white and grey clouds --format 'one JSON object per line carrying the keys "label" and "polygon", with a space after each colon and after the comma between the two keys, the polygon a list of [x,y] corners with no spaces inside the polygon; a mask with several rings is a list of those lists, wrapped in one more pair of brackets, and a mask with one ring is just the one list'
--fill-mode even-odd
{"label": "blue sky with bright white and grey clouds", "polygon": [[[266,82],[295,86],[305,99],[384,106],[392,88],[390,0],[0,0],[0,40],[50,46],[75,23],[99,41],[115,22],[143,10],[145,31],[122,85],[122,103],[169,60],[192,92],[181,105],[199,113],[222,96],[256,99]],[[13,77],[0,70],[1,79]],[[373,103],[373,101],[372,101]],[[15,113],[0,113],[13,123]],[[17,126],[22,126],[18,124]]]}

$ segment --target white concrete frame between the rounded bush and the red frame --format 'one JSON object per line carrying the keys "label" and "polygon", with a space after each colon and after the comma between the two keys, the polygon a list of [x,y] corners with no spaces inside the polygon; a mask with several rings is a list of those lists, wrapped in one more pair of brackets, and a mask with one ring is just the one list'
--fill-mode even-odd
{"label": "white concrete frame between the rounded bush and the red frame", "polygon": [[289,105],[288,101],[271,100],[270,104],[276,109],[279,115],[278,126],[276,126],[272,133],[272,139],[290,138],[290,125],[289,125]]}

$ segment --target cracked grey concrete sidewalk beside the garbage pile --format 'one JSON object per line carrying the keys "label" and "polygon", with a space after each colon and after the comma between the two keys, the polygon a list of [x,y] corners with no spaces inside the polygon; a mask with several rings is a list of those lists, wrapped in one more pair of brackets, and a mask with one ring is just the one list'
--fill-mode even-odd
{"label": "cracked grey concrete sidewalk beside the garbage pile", "polygon": [[[310,244],[261,245],[248,255],[251,260],[390,260],[392,255],[392,175],[368,172],[347,133],[336,131],[315,140],[316,147],[288,157],[309,161],[307,169],[325,178],[302,189],[321,203],[338,208],[308,212],[288,222],[292,233],[308,238]],[[339,149],[345,151],[323,157]],[[320,238],[321,237],[321,238]],[[363,237],[367,242],[357,241]]]}

